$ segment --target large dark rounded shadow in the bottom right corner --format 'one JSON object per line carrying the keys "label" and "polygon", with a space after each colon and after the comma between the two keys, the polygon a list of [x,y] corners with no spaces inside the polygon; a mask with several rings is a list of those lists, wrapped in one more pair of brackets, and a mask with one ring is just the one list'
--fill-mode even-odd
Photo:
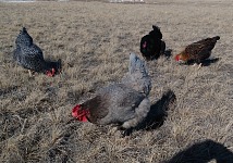
{"label": "large dark rounded shadow in the bottom right corner", "polygon": [[179,152],[165,163],[208,163],[212,160],[217,163],[232,163],[233,153],[222,143],[205,140]]}

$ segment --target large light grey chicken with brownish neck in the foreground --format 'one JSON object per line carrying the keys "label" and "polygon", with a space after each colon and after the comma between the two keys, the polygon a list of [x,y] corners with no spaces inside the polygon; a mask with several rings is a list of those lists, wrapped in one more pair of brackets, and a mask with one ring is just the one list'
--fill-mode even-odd
{"label": "large light grey chicken with brownish neck in the foreground", "polygon": [[[136,76],[136,73],[138,73],[138,78],[143,77],[143,74],[148,76],[146,67],[142,67],[144,64],[142,64],[139,58],[131,53],[130,60],[130,63],[132,63],[130,64],[130,71],[134,76]],[[133,66],[131,67],[131,65]],[[131,73],[127,77],[130,75]],[[128,79],[133,82],[133,78],[130,77]],[[135,82],[134,85],[121,83],[101,88],[94,98],[73,108],[72,116],[81,122],[89,121],[99,125],[118,124],[120,125],[119,129],[124,129],[123,135],[128,135],[132,128],[144,121],[150,110],[150,101],[147,97],[151,89],[150,78],[146,77],[146,82],[142,79],[138,84],[144,85],[135,87]],[[144,87],[147,89],[144,89]],[[142,90],[135,90],[134,88],[140,88]]]}

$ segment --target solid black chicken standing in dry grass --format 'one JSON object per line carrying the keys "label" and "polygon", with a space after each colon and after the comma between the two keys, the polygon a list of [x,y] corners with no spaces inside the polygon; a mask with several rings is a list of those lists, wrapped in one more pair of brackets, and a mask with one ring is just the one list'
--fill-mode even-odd
{"label": "solid black chicken standing in dry grass", "polygon": [[152,28],[154,30],[140,39],[140,52],[147,61],[158,59],[165,50],[160,28],[155,25]]}

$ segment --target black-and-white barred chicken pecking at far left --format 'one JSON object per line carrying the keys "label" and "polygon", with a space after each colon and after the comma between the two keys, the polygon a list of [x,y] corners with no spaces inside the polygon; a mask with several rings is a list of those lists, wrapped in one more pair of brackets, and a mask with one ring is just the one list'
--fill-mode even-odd
{"label": "black-and-white barred chicken pecking at far left", "polygon": [[[28,35],[25,27],[20,32],[15,40],[16,49],[13,52],[13,60],[24,68],[27,68],[29,75],[33,72],[44,73],[48,76],[53,76],[58,71],[54,64],[51,65],[49,62],[44,60],[42,51],[33,42],[33,38]],[[60,67],[60,61],[58,66]]]}

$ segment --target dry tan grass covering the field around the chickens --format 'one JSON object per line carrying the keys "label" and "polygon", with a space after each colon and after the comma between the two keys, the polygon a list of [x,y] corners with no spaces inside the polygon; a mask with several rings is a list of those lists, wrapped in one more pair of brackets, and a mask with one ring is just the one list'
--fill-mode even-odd
{"label": "dry tan grass covering the field around the chickens", "polygon": [[[0,3],[0,160],[157,163],[208,139],[233,151],[232,5],[230,0]],[[172,58],[148,62],[152,103],[169,89],[177,99],[157,129],[121,138],[110,126],[71,121],[74,104],[121,80],[128,53],[140,54],[140,37],[152,24],[161,27],[173,55],[193,41],[219,35],[212,57],[220,61],[200,70]],[[22,26],[45,58],[62,59],[62,74],[30,78],[12,63]],[[188,159],[183,162],[205,156]]]}

